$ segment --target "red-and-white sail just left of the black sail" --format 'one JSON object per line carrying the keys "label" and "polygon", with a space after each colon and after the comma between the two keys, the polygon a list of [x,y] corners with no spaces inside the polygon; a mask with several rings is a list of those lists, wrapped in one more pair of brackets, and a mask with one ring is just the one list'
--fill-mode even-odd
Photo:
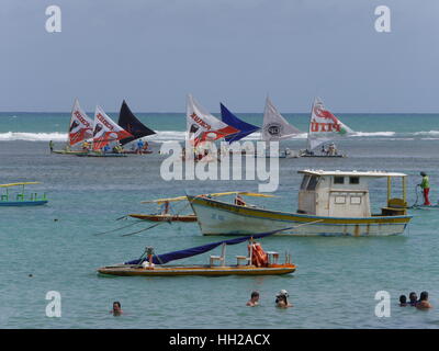
{"label": "red-and-white sail just left of the black sail", "polygon": [[101,106],[94,112],[93,150],[100,150],[112,141],[132,137],[133,135],[111,120]]}

